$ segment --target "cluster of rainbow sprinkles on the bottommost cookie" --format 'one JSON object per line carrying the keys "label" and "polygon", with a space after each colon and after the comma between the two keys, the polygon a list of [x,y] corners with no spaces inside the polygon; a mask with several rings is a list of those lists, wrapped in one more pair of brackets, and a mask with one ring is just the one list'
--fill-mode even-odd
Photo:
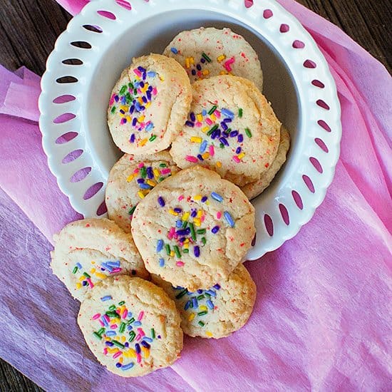
{"label": "cluster of rainbow sprinkles on the bottommost cookie", "polygon": [[[103,296],[101,301],[110,301],[110,295]],[[133,316],[128,310],[125,301],[111,304],[105,314],[94,314],[91,318],[99,323],[98,331],[93,331],[93,336],[102,341],[103,354],[115,359],[115,366],[122,371],[127,371],[138,363],[143,366],[143,359],[150,356],[151,344],[156,336],[155,330],[150,329],[150,336],[143,329],[145,312],[140,311],[138,317]]]}

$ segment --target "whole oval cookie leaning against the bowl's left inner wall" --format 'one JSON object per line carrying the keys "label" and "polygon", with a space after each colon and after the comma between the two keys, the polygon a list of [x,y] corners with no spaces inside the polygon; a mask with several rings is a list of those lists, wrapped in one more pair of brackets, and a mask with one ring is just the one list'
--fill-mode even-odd
{"label": "whole oval cookie leaning against the bowl's left inner wall", "polygon": [[134,58],[110,95],[108,125],[124,153],[165,150],[186,120],[192,100],[187,73],[160,54]]}

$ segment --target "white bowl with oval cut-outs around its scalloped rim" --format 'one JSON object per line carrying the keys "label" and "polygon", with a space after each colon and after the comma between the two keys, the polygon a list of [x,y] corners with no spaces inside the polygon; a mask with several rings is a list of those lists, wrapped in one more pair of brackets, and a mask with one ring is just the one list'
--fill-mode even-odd
{"label": "white bowl with oval cut-outs around its scalloped rim", "polygon": [[[242,34],[259,54],[263,93],[292,137],[287,163],[252,201],[257,239],[248,259],[277,249],[311,219],[339,158],[336,86],[301,24],[274,0],[255,3],[247,8],[242,0],[133,0],[129,9],[124,0],[96,0],[70,21],[48,58],[39,108],[48,165],[76,211],[105,216],[105,184],[120,156],[106,110],[123,68],[133,56],[162,53],[182,30],[225,26]],[[92,31],[96,28],[101,32]],[[64,118],[71,119],[59,123]]]}

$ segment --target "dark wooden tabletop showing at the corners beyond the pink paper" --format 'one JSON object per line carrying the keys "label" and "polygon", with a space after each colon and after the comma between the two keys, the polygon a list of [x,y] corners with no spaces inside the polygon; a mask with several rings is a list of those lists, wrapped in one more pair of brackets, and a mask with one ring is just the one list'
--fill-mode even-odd
{"label": "dark wooden tabletop showing at the corners beyond the pink paper", "polygon": [[[0,6],[0,64],[26,66],[41,75],[57,36],[71,16],[54,0],[8,0]],[[390,0],[299,0],[356,40],[389,71],[392,66]],[[42,391],[29,378],[0,360],[0,391]]]}

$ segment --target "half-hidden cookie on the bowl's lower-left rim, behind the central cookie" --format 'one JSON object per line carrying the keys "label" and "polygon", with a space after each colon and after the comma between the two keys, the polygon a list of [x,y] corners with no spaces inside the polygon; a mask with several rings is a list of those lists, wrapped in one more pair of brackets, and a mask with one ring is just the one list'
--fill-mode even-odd
{"label": "half-hidden cookie on the bowl's lower-left rim, behind the central cookie", "polygon": [[105,192],[108,216],[130,232],[133,211],[148,192],[179,169],[165,150],[150,155],[123,155],[110,170]]}

